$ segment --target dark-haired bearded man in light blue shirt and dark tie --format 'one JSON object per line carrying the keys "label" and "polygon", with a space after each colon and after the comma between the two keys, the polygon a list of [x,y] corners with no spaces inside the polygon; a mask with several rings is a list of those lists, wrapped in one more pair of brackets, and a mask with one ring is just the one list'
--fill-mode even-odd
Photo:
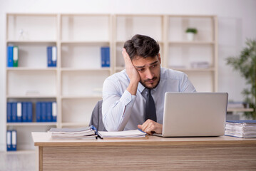
{"label": "dark-haired bearded man in light blue shirt and dark tie", "polygon": [[185,73],[160,67],[159,50],[153,38],[138,34],[124,44],[126,70],[103,83],[106,130],[162,133],[165,92],[195,92]]}

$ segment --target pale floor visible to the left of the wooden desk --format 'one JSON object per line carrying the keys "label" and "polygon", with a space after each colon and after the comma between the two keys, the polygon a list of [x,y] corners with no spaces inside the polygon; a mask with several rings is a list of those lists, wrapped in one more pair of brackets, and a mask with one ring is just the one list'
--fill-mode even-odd
{"label": "pale floor visible to the left of the wooden desk", "polygon": [[36,153],[29,152],[1,152],[0,171],[35,171]]}

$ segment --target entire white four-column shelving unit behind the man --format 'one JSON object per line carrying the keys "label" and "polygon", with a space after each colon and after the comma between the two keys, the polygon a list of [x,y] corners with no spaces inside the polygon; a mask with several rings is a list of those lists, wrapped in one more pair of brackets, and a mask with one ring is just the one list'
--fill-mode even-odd
{"label": "entire white four-column shelving unit behind the man", "polygon": [[[195,41],[185,29],[198,28]],[[126,14],[6,14],[6,47],[19,46],[19,67],[6,67],[6,103],[31,101],[33,123],[6,123],[17,130],[17,150],[33,150],[32,131],[86,126],[102,98],[103,81],[125,68],[123,43],[135,34],[155,38],[162,66],[188,74],[198,91],[217,91],[217,17]],[[47,67],[47,46],[57,46],[57,66]],[[101,47],[111,67],[101,67]],[[191,68],[208,61],[209,68]],[[203,83],[203,84],[202,84]],[[37,101],[56,101],[56,123],[36,123]],[[5,113],[6,115],[6,113]]]}

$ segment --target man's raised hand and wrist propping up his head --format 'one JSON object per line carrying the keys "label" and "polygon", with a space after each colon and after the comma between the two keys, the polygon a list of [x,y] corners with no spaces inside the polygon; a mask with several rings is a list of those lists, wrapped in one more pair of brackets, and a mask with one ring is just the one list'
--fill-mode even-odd
{"label": "man's raised hand and wrist propping up his head", "polygon": [[130,56],[126,52],[126,48],[123,48],[122,54],[123,54],[123,59],[126,63],[126,73],[130,78],[130,84],[126,90],[128,90],[132,95],[136,95],[138,82],[140,81],[140,75],[138,74],[138,71],[133,66],[132,61],[130,61]]}

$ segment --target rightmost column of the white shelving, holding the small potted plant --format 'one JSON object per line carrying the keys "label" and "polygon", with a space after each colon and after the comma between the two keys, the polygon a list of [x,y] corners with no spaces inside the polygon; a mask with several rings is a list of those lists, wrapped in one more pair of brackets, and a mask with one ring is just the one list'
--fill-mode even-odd
{"label": "rightmost column of the white shelving, holding the small potted plant", "polygon": [[[217,91],[217,16],[166,16],[164,66],[183,71],[198,91]],[[197,28],[194,41],[185,30]],[[193,62],[207,62],[207,68],[193,68]],[[203,83],[203,84],[202,84]]]}

